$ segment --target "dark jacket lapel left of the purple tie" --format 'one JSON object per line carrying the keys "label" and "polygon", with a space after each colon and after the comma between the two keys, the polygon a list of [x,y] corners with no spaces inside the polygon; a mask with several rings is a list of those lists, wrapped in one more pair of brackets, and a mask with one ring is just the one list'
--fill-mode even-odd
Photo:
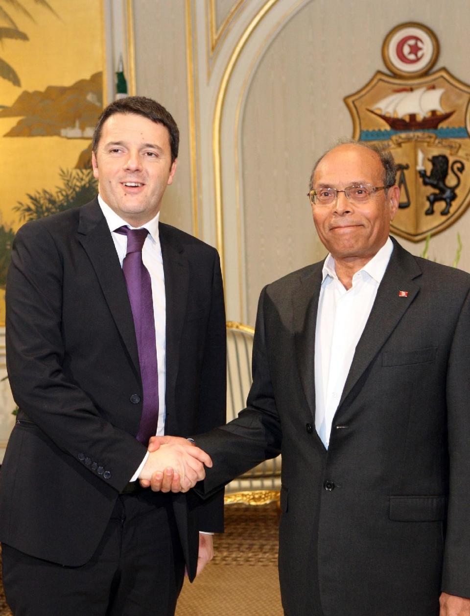
{"label": "dark jacket lapel left of the purple tie", "polygon": [[95,199],[80,209],[78,240],[85,249],[105,300],[121,334],[133,367],[140,375],[137,341],[124,274],[122,274],[110,228]]}

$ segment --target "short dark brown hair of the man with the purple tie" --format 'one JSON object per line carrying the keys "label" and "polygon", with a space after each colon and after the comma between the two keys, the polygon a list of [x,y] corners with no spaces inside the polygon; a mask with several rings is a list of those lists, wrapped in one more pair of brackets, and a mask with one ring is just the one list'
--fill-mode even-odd
{"label": "short dark brown hair of the man with the purple tie", "polygon": [[169,132],[170,148],[172,152],[172,163],[178,158],[178,146],[180,145],[180,131],[173,116],[163,105],[156,100],[148,99],[145,96],[126,96],[124,99],[113,100],[102,111],[98,118],[93,133],[92,150],[97,152],[98,142],[100,141],[103,124],[115,113],[136,113],[144,116],[156,124],[163,124]]}

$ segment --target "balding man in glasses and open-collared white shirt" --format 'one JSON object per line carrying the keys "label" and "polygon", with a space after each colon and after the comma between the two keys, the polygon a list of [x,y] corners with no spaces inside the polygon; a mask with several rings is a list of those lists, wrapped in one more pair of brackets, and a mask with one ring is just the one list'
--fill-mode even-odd
{"label": "balding man in glasses and open-collared white shirt", "polygon": [[194,437],[205,490],[282,452],[289,616],[468,615],[470,276],[389,238],[389,154],[333,148],[309,197],[330,254],[262,291],[247,408]]}

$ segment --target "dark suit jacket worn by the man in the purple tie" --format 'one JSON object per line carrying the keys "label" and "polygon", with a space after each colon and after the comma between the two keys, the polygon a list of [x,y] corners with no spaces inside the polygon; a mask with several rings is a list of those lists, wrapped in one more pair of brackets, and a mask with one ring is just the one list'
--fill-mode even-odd
{"label": "dark suit jacket worn by the man in the purple tie", "polygon": [[[225,421],[225,309],[217,251],[159,225],[166,296],[166,425],[187,436]],[[20,408],[0,472],[0,540],[64,565],[87,562],[146,448],[124,275],[94,200],[28,222],[7,280],[7,367]],[[189,575],[199,530],[223,500],[173,507]]]}

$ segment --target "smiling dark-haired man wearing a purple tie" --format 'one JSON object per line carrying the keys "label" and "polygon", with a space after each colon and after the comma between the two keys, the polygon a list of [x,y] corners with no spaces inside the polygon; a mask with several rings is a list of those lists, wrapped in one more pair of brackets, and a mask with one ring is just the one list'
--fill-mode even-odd
{"label": "smiling dark-haired man wearing a purple tie", "polygon": [[[98,198],[15,238],[6,335],[19,411],[0,473],[15,616],[173,614],[185,567],[193,580],[223,528],[222,494],[188,492],[209,456],[186,440],[146,447],[225,421],[217,251],[159,223],[178,139],[159,103],[111,103],[93,142]],[[141,488],[167,466],[186,493]]]}

